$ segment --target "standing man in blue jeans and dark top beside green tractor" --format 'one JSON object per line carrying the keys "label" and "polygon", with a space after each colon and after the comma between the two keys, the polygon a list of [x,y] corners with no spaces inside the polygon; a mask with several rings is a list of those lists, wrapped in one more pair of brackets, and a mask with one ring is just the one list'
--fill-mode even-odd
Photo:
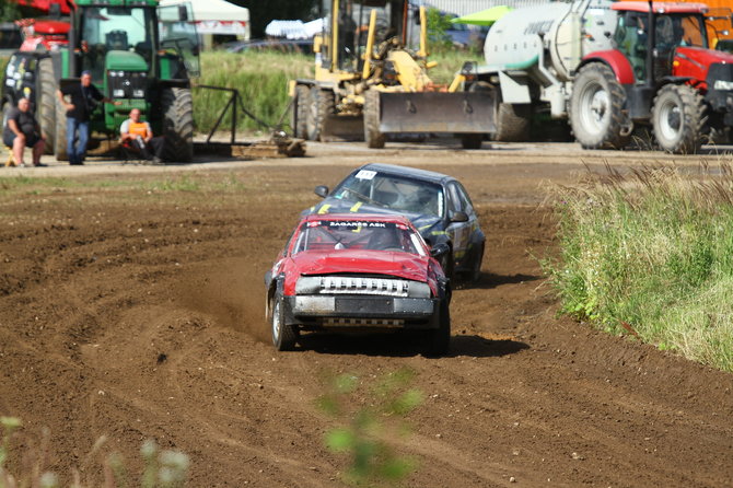
{"label": "standing man in blue jeans and dark top beside green tractor", "polygon": [[[66,138],[69,164],[84,164],[92,112],[100,102],[114,105],[120,105],[121,102],[114,102],[104,96],[92,84],[92,73],[89,71],[81,73],[81,83],[63,86],[56,95],[67,109]],[[67,101],[67,96],[70,101]]]}

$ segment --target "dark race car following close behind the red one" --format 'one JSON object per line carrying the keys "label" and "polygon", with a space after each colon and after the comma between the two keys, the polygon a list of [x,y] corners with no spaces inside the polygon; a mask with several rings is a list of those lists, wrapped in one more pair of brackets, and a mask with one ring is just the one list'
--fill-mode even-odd
{"label": "dark race car following close behind the red one", "polygon": [[402,213],[430,246],[445,243],[440,262],[447,277],[478,279],[486,236],[468,193],[452,176],[391,164],[354,170],[333,191],[316,186],[324,200],[307,213]]}

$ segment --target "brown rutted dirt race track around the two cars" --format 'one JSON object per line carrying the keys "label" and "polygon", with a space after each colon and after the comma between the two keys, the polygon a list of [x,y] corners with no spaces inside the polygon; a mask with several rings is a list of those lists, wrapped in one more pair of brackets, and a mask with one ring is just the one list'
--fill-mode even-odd
{"label": "brown rutted dirt race track around the two cars", "polygon": [[[581,159],[601,167],[660,154],[572,144],[310,153],[0,170],[85,182],[30,193],[0,177],[0,415],[22,417],[26,439],[49,427],[58,473],[78,466],[98,484],[103,453],[86,453],[104,434],[132,467],[146,439],[183,450],[190,486],[341,486],[345,460],[322,441],[334,423],[314,405],[321,373],[409,367],[426,400],[398,444],[420,461],[407,486],[733,485],[733,376],[557,318],[533,257],[554,245],[543,182],[571,184]],[[392,336],[316,337],[276,353],[264,272],[316,201],[312,188],[368,161],[453,174],[479,209],[487,256],[478,284],[454,294],[452,353],[427,359]],[[202,189],[181,190],[191,182]]]}

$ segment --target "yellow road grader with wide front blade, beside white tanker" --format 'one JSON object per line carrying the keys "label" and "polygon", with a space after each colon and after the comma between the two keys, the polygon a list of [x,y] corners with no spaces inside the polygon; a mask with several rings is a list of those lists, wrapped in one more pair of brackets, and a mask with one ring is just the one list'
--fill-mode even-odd
{"label": "yellow road grader with wide front blade, beside white tanker", "polygon": [[[383,148],[389,136],[455,135],[477,149],[496,131],[492,91],[464,92],[428,70],[424,8],[409,0],[325,0],[314,39],[315,78],[290,82],[295,137],[359,140]],[[469,65],[468,65],[469,66]]]}

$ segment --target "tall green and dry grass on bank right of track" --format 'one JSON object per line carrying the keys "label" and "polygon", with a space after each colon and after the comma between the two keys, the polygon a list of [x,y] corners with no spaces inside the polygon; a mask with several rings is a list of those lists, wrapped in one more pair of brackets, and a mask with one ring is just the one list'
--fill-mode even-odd
{"label": "tall green and dry grass on bank right of track", "polygon": [[733,371],[733,166],[645,167],[558,188],[562,310]]}

